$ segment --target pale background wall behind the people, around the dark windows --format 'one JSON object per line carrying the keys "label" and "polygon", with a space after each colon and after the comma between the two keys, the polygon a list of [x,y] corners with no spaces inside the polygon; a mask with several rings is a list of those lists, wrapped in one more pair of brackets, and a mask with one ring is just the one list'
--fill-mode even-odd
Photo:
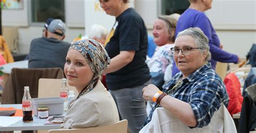
{"label": "pale background wall behind the people, around the dark windows", "polygon": [[[23,0],[22,10],[2,10],[3,26],[18,26],[19,51],[29,53],[30,42],[42,36],[43,24],[30,23],[30,1]],[[71,42],[85,33],[84,2],[93,0],[65,0],[66,38]],[[95,0],[96,1],[96,0]],[[149,34],[152,35],[153,21],[159,13],[159,0],[134,0],[134,8],[142,15]],[[255,0],[216,0],[206,14],[210,18],[224,50],[245,57],[252,43],[256,43],[256,2]],[[89,13],[90,14],[90,13]],[[93,14],[91,19],[97,16]],[[114,23],[114,22],[113,22]],[[110,27],[112,24],[110,25]]]}

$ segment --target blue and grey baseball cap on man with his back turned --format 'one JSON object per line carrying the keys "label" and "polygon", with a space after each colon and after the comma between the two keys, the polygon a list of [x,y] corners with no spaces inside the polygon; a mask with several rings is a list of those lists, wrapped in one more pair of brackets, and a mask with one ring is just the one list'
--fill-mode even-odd
{"label": "blue and grey baseball cap on man with his back turned", "polygon": [[[65,34],[66,25],[60,19],[49,18],[46,20],[44,27],[51,33],[63,36]],[[62,33],[56,32],[56,29],[60,29]]]}

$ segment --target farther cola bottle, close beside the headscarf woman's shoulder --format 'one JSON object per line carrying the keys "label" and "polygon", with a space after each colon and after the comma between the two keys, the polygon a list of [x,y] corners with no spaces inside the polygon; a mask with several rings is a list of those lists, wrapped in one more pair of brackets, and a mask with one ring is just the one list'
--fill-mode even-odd
{"label": "farther cola bottle, close beside the headscarf woman's shoulder", "polygon": [[60,88],[59,96],[64,98],[64,111],[68,110],[68,95],[69,95],[69,88],[66,85],[66,78],[62,78],[62,87]]}

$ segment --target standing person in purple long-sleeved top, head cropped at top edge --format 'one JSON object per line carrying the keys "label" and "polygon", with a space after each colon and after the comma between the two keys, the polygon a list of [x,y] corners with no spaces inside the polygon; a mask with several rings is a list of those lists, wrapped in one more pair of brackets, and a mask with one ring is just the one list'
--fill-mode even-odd
{"label": "standing person in purple long-sleeved top, head cropped at top edge", "polygon": [[[212,0],[188,0],[190,2],[189,8],[181,14],[176,28],[175,36],[184,29],[190,27],[199,27],[209,40],[210,52],[212,58],[209,61],[212,68],[215,70],[215,65],[218,62],[238,63],[240,59],[237,55],[230,54],[222,50],[219,37],[213,28],[211,21],[208,19],[204,11],[212,8]],[[172,75],[174,76],[179,70],[176,65],[173,65]]]}

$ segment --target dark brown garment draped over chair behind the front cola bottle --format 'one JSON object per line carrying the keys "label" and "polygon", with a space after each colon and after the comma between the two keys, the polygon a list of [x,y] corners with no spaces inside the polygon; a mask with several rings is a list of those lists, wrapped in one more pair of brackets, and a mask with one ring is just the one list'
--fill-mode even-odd
{"label": "dark brown garment draped over chair behind the front cola bottle", "polygon": [[13,68],[4,85],[2,104],[22,104],[24,86],[29,86],[31,97],[37,98],[40,78],[64,78],[64,73],[60,68]]}

